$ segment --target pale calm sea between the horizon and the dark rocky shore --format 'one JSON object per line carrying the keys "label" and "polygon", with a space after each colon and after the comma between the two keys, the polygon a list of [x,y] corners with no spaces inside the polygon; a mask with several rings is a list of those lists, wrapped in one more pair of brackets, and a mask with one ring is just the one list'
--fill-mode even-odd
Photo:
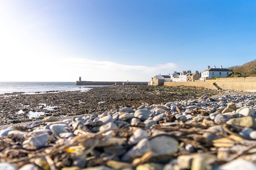
{"label": "pale calm sea between the horizon and the dark rocky shore", "polygon": [[0,94],[13,92],[87,91],[93,86],[75,85],[75,82],[0,82]]}

